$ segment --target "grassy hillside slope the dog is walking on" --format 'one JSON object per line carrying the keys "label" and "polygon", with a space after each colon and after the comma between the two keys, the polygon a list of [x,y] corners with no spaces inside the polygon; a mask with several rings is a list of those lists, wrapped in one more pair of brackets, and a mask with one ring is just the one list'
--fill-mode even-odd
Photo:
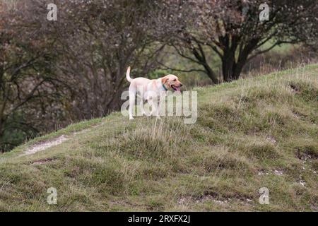
{"label": "grassy hillside slope the dog is walking on", "polygon": [[116,112],[0,155],[0,210],[318,210],[318,65],[195,90],[196,124]]}

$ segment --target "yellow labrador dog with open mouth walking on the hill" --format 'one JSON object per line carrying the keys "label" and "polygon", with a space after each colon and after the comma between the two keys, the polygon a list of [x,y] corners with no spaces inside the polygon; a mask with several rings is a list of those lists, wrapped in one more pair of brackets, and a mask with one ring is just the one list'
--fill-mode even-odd
{"label": "yellow labrador dog with open mouth walking on the hill", "polygon": [[[163,78],[158,79],[148,79],[148,78],[130,78],[130,66],[126,71],[126,79],[129,81],[129,119],[134,119],[133,117],[133,107],[135,105],[136,95],[141,97],[141,109],[142,113],[146,114],[143,110],[143,100],[146,100],[149,105],[151,105],[151,113],[156,113],[156,116],[159,117],[160,104],[165,97],[167,90],[174,90],[180,92],[182,83],[180,83],[179,78],[175,75],[167,75]],[[159,97],[159,107],[155,107],[158,104]],[[156,103],[157,100],[157,103]]]}

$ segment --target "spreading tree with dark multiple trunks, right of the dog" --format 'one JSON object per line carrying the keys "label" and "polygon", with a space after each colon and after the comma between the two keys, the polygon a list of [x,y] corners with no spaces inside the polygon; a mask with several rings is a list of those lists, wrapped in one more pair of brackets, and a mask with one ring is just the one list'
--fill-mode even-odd
{"label": "spreading tree with dark multiple trunks, right of the dog", "polygon": [[[179,56],[199,64],[213,83],[219,83],[208,54],[222,62],[223,81],[240,77],[253,57],[283,43],[310,43],[317,40],[318,4],[316,0],[266,1],[269,20],[259,20],[259,0],[184,1],[182,14],[191,15],[172,42]],[[193,15],[194,14],[194,15]],[[190,19],[191,19],[190,18]],[[189,17],[187,17],[189,20]],[[271,46],[261,49],[264,44]]]}

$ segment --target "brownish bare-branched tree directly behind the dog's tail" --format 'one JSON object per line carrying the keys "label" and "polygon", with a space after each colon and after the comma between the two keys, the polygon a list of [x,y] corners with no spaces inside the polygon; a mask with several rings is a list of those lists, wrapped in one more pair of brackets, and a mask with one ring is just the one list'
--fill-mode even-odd
{"label": "brownish bare-branched tree directly behind the dog's tail", "polygon": [[[128,83],[125,72],[147,76],[164,45],[156,19],[158,1],[63,1],[54,23],[56,64],[72,88],[70,107],[78,119],[102,117],[119,109]],[[149,10],[151,8],[151,10]],[[158,40],[163,41],[162,44]]]}

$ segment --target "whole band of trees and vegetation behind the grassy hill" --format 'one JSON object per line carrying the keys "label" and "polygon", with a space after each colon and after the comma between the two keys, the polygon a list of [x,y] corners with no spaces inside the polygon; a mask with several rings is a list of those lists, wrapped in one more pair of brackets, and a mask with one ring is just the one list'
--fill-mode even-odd
{"label": "whole band of trees and vegetation behind the grassy hill", "polygon": [[[124,73],[186,89],[316,60],[317,1],[0,1],[0,151],[119,109]],[[151,9],[151,10],[150,10]]]}

